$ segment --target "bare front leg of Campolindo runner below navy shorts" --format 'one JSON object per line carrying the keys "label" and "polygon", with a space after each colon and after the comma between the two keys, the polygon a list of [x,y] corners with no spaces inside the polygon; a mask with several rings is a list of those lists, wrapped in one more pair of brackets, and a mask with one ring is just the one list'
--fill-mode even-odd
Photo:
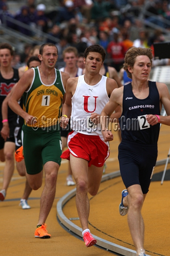
{"label": "bare front leg of Campolindo runner below navy shorts", "polygon": [[128,196],[123,198],[124,206],[128,206],[128,226],[137,255],[141,249],[144,250],[144,221],[141,215],[141,209],[146,197],[142,193],[140,185],[132,185],[127,188]]}

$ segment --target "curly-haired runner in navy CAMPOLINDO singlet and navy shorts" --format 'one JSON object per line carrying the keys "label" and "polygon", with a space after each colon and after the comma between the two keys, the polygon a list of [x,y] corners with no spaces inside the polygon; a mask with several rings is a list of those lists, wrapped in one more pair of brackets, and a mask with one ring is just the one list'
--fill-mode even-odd
{"label": "curly-haired runner in navy CAMPOLINDO singlet and navy shorts", "polygon": [[[124,69],[132,82],[113,90],[101,112],[104,128],[104,116],[111,116],[115,108],[121,106],[122,141],[118,158],[126,189],[122,191],[119,212],[122,216],[128,213],[128,226],[137,256],[146,256],[141,209],[156,164],[160,123],[170,126],[170,94],[166,84],[148,81],[151,67],[151,49],[130,48]],[[167,116],[160,116],[162,104]],[[106,128],[102,134],[105,141],[113,140],[113,134]]]}

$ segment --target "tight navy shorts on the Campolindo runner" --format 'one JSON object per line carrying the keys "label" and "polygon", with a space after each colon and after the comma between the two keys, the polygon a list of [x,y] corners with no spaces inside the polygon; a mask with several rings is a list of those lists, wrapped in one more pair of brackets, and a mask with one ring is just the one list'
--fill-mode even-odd
{"label": "tight navy shorts on the Campolindo runner", "polygon": [[121,176],[126,188],[139,184],[143,194],[148,193],[158,156],[157,145],[122,141],[118,149]]}

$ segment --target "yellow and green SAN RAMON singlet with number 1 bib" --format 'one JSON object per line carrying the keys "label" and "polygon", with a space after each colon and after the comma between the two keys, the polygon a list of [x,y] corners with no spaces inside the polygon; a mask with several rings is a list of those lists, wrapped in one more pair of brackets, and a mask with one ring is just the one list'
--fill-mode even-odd
{"label": "yellow and green SAN RAMON singlet with number 1 bib", "polygon": [[39,68],[33,69],[32,84],[23,94],[23,109],[38,119],[39,127],[48,127],[58,122],[61,116],[62,99],[65,94],[61,72],[55,69],[55,81],[46,85],[41,80]]}

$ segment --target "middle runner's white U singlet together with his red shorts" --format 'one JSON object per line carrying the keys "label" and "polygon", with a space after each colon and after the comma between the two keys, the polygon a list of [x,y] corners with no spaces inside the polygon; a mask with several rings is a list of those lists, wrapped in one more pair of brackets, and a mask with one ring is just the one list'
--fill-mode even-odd
{"label": "middle runner's white U singlet together with his red shorts", "polygon": [[72,97],[71,129],[67,144],[68,149],[61,158],[70,160],[70,153],[87,160],[88,166],[102,167],[109,157],[109,142],[104,142],[101,125],[91,121],[91,113],[101,114],[109,101],[106,90],[106,76],[90,86],[86,84],[84,75],[79,76],[75,94]]}

